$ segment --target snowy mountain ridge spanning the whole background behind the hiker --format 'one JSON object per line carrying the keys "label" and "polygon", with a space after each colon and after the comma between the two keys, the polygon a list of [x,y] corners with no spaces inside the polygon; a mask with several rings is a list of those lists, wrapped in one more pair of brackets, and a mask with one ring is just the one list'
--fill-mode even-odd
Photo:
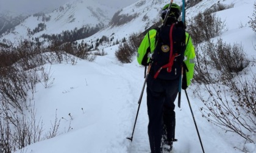
{"label": "snowy mountain ridge spanning the whole background behind the hiker", "polygon": [[[179,5],[182,4],[182,1],[174,2]],[[90,27],[101,26],[104,27],[104,29],[88,38],[77,40],[77,42],[84,41],[89,44],[89,42],[96,42],[96,40],[102,38],[102,36],[108,36],[109,38],[114,36],[116,40],[120,41],[123,38],[129,37],[132,33],[144,32],[144,30],[149,29],[152,25],[161,22],[160,10],[163,5],[167,3],[168,1],[165,0],[140,0],[114,13],[113,9],[105,7],[105,5],[92,0],[69,1],[51,13],[39,13],[36,16],[30,16],[20,25],[16,26],[13,32],[3,35],[0,38],[0,42],[3,41],[3,39],[9,40],[10,42],[16,42],[21,38],[30,39],[30,41],[32,41],[32,38],[40,38],[43,34],[60,34],[65,30],[70,31],[80,29],[87,25]],[[218,2],[214,0],[201,1],[187,10],[187,21],[197,15],[197,13],[209,9],[214,4],[218,3],[234,4],[235,7],[239,7],[241,4],[251,4],[247,1],[243,2],[238,0],[221,0]],[[252,9],[252,7],[248,7],[247,11],[251,11]],[[243,13],[240,13],[240,16],[243,16]],[[249,18],[246,18],[246,20],[249,21]],[[237,21],[239,24],[240,21]],[[41,29],[40,32],[31,34],[30,31],[36,29],[38,24],[44,24],[45,29]],[[44,39],[40,39],[40,41],[44,41]],[[104,48],[104,46],[102,47]]]}

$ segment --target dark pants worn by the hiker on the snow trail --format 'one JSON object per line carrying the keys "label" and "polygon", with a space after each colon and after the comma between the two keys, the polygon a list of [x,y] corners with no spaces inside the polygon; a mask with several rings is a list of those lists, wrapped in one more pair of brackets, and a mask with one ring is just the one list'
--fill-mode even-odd
{"label": "dark pants worn by the hiker on the snow trail", "polygon": [[166,127],[167,138],[175,137],[175,104],[179,92],[177,80],[154,79],[150,74],[147,80],[148,135],[151,153],[160,153],[163,126]]}

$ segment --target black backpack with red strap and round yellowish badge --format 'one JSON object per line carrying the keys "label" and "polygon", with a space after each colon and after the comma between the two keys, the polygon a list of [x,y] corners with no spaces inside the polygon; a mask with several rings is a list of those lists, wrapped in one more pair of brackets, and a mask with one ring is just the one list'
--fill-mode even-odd
{"label": "black backpack with red strap and round yellowish badge", "polygon": [[[184,52],[186,49],[186,35],[183,22],[180,21],[176,24],[165,25],[155,30],[157,30],[154,38],[155,44],[152,45],[152,42],[150,42],[152,39],[148,33],[149,47],[146,51],[144,47],[144,52],[141,52],[142,49],[138,49],[138,63],[140,64],[139,60],[141,60],[142,65],[149,64],[150,57],[148,56],[148,52],[151,49],[151,70],[149,73],[151,73],[154,78],[175,80],[182,73]],[[147,43],[144,43],[144,45],[147,45]]]}

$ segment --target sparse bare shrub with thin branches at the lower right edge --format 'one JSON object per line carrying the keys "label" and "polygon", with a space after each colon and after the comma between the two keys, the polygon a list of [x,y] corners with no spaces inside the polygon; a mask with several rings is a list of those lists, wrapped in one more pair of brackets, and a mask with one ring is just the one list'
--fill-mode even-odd
{"label": "sparse bare shrub with thin branches at the lower right edge", "polygon": [[207,91],[208,95],[195,91],[204,103],[204,107],[201,107],[203,117],[226,132],[234,132],[255,143],[256,77],[252,80],[236,77],[224,81],[223,84],[205,84],[202,89]]}

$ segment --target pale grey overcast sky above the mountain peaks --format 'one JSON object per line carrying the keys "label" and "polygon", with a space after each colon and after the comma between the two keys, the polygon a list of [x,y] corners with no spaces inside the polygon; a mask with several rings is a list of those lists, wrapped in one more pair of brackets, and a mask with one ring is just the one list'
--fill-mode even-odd
{"label": "pale grey overcast sky above the mountain peaks", "polygon": [[[0,13],[10,10],[15,13],[36,13],[40,11],[51,11],[72,0],[0,0]],[[110,7],[125,7],[139,0],[95,0]]]}

